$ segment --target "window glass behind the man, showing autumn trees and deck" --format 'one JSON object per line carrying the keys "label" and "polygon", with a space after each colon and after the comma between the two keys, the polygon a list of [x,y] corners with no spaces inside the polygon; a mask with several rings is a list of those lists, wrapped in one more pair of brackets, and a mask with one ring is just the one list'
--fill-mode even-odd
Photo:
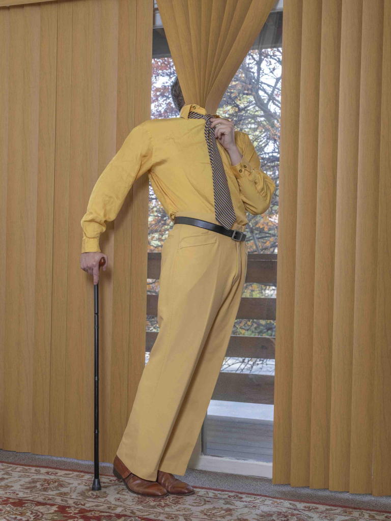
{"label": "window glass behind the man, showing autumn trees and deck", "polygon": [[[282,18],[281,10],[272,11],[217,110],[249,135],[276,190],[265,214],[247,214],[252,264],[242,294],[244,316],[235,322],[204,421],[202,453],[261,462],[272,461],[273,441]],[[151,117],[179,117],[170,95],[176,72],[157,8],[154,20]],[[157,262],[173,225],[151,186],[149,205],[149,262]],[[158,279],[148,279],[148,293],[157,299]],[[157,318],[148,316],[147,349],[157,331]]]}

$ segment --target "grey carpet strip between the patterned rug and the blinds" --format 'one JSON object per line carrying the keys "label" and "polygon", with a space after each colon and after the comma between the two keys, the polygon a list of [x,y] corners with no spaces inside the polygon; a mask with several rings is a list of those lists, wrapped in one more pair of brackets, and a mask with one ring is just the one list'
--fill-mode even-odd
{"label": "grey carpet strip between the patterned rug and the blinds", "polygon": [[[22,463],[25,465],[42,465],[63,469],[84,470],[93,472],[93,462],[74,460],[71,458],[31,454],[0,450],[0,461]],[[101,463],[101,475],[112,474],[111,463]],[[391,496],[373,497],[371,494],[350,494],[333,492],[328,489],[310,489],[309,487],[290,487],[289,485],[273,485],[271,479],[207,472],[188,468],[185,476],[178,476],[193,486],[214,489],[252,492],[277,498],[311,501],[334,505],[356,506],[372,510],[391,511]]]}

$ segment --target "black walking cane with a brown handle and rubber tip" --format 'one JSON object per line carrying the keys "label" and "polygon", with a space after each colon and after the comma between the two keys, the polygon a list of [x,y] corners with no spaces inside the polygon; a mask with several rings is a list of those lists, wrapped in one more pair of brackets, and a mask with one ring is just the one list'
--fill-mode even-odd
{"label": "black walking cane with a brown handle and rubber tip", "polygon": [[[104,266],[106,259],[104,257],[99,261],[99,269]],[[101,482],[99,480],[99,280],[94,284],[94,317],[95,317],[95,399],[94,399],[94,480],[91,490],[101,490]]]}

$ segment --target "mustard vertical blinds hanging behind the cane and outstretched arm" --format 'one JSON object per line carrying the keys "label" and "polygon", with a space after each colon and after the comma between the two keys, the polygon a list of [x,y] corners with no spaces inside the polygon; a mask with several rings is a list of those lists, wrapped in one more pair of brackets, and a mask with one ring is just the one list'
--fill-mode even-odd
{"label": "mustard vertical blinds hanging behind the cane and outstretched arm", "polygon": [[[80,219],[150,118],[151,0],[0,1],[0,447],[92,460],[94,297]],[[148,178],[102,235],[100,457],[145,364]]]}

